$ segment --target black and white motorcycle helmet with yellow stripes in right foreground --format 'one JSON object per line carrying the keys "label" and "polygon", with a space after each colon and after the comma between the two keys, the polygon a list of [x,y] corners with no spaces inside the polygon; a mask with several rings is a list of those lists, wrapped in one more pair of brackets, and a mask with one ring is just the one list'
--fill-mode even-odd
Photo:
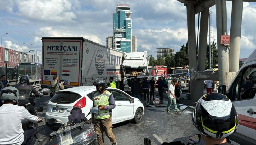
{"label": "black and white motorcycle helmet with yellow stripes in right foreground", "polygon": [[220,93],[203,95],[195,106],[192,121],[201,134],[215,139],[228,137],[238,127],[234,105]]}

